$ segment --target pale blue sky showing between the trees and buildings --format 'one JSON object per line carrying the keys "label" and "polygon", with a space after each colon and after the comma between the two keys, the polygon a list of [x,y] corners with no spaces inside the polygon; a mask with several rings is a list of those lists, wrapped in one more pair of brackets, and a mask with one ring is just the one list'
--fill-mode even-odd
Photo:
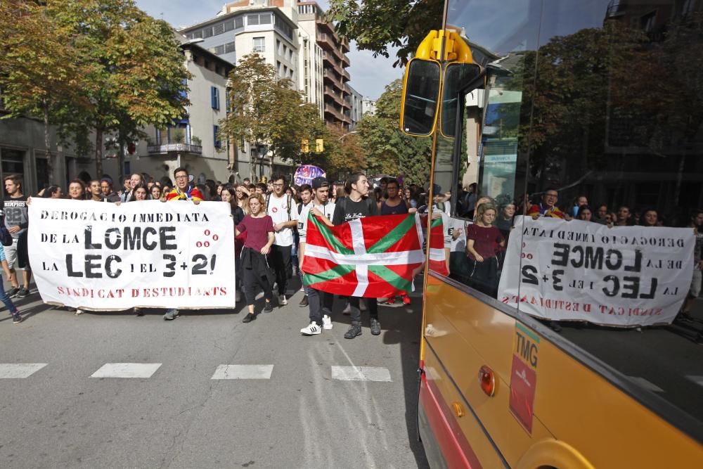
{"label": "pale blue sky showing between the trees and buildings", "polygon": [[[226,4],[226,0],[136,0],[136,4],[154,18],[163,18],[176,28],[194,25],[215,15]],[[328,8],[325,0],[318,0],[322,8]],[[389,49],[389,58],[373,57],[370,51],[359,51],[352,42],[349,53],[349,86],[362,96],[378,99],[384,87],[403,75],[403,69],[393,68],[396,49]]]}

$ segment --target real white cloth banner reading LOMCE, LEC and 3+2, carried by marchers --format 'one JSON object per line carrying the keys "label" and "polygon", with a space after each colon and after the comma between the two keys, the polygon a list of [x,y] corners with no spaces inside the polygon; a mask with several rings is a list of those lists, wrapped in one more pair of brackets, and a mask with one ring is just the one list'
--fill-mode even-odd
{"label": "real white cloth banner reading LOMCE, LEC and 3+2, carried by marchers", "polygon": [[41,299],[98,311],[235,306],[234,226],[221,202],[32,198]]}

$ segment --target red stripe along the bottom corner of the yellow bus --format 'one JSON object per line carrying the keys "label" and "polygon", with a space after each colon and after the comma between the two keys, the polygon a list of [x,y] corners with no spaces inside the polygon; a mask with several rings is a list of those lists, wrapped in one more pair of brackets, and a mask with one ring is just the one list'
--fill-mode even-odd
{"label": "red stripe along the bottom corner of the yellow bus", "polygon": [[425,373],[422,374],[420,384],[420,404],[425,409],[432,433],[447,465],[450,468],[482,468],[444,397],[437,386],[427,380]]}

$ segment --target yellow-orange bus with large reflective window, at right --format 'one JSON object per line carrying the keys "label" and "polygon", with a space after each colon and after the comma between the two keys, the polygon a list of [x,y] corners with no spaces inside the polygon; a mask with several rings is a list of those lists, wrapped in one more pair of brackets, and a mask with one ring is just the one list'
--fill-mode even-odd
{"label": "yellow-orange bus with large reflective window, at right", "polygon": [[408,63],[432,467],[703,467],[702,8],[446,0]]}

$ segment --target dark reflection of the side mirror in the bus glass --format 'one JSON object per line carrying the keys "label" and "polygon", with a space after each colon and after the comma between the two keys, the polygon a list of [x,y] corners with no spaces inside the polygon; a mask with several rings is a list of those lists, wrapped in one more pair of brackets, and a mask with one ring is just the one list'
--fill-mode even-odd
{"label": "dark reflection of the side mirror in the bus glass", "polygon": [[459,91],[466,94],[484,82],[481,67],[475,63],[450,63],[444,69],[441,96],[441,117],[439,129],[446,137],[456,132],[456,112],[459,104]]}

